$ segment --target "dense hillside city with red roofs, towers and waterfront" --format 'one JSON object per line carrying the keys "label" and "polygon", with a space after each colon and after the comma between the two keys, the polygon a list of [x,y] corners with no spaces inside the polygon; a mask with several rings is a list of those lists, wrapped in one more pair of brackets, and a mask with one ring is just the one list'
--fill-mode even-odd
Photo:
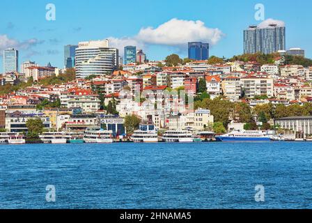
{"label": "dense hillside city with red roofs, towers and waterfront", "polygon": [[65,45],[56,68],[6,49],[0,143],[222,141],[227,132],[312,140],[312,61],[286,49],[285,26],[243,33],[243,54],[228,59],[210,56],[209,43],[149,61],[137,46],[120,55],[109,40],[89,40]]}

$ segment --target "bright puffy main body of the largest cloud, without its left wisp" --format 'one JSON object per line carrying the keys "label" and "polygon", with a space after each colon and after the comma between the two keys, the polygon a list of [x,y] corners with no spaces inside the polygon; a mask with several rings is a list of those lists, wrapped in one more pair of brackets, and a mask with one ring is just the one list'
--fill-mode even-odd
{"label": "bright puffy main body of the largest cloud, without its left wisp", "polygon": [[137,39],[148,44],[178,46],[188,42],[202,41],[215,45],[224,34],[219,29],[211,29],[205,23],[176,18],[153,27],[142,28]]}

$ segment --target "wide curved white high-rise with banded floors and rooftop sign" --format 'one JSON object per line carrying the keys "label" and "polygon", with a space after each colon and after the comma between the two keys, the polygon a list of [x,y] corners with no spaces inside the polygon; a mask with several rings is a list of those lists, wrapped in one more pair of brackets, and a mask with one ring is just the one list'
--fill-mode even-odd
{"label": "wide curved white high-rise with banded floors and rooftop sign", "polygon": [[109,75],[119,66],[118,49],[110,48],[108,40],[80,42],[76,49],[76,76]]}

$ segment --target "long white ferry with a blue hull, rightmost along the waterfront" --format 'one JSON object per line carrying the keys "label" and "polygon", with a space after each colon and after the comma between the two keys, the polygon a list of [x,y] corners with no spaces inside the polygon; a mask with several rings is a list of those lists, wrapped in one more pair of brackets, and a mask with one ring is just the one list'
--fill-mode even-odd
{"label": "long white ferry with a blue hull, rightmost along the waterfront", "polygon": [[217,141],[270,141],[271,138],[261,131],[233,131],[216,136]]}

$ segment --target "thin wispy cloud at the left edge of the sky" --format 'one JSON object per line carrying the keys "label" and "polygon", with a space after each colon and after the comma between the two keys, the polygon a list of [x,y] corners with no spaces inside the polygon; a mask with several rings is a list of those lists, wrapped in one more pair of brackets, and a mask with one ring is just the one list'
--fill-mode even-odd
{"label": "thin wispy cloud at the left edge of the sky", "polygon": [[15,39],[8,38],[6,35],[0,35],[0,55],[3,54],[4,49],[8,48],[16,48],[16,49],[31,49],[31,47],[34,47],[38,44],[44,43],[43,40],[38,40],[36,38],[31,38],[29,40],[25,41],[18,41]]}

